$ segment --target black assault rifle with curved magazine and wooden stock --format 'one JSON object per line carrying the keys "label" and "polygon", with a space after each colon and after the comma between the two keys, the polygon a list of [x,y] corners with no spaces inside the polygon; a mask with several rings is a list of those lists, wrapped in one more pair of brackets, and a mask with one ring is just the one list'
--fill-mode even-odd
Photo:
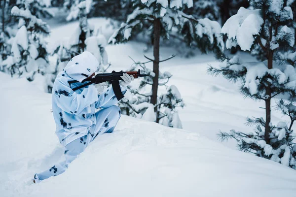
{"label": "black assault rifle with curved magazine and wooden stock", "polygon": [[[133,77],[139,78],[139,77],[147,77],[149,76],[148,74],[141,74],[140,69],[138,71],[127,71],[127,72],[123,72],[122,70],[120,72],[115,72],[114,70],[111,73],[99,73],[96,74],[93,73],[90,76],[87,76],[86,79],[84,79],[82,81],[82,83],[87,82],[81,86],[75,87],[72,90],[78,90],[80,88],[83,88],[85,86],[88,86],[90,84],[97,84],[97,83],[104,83],[104,82],[109,82],[112,84],[112,88],[114,91],[114,94],[117,98],[117,100],[122,99],[124,96],[120,90],[120,86],[119,86],[119,80],[122,80],[122,78],[120,76],[123,75],[123,73],[127,73],[129,75],[133,75]],[[72,83],[79,83],[79,81],[73,80],[73,81],[68,81],[69,85],[71,86]]]}

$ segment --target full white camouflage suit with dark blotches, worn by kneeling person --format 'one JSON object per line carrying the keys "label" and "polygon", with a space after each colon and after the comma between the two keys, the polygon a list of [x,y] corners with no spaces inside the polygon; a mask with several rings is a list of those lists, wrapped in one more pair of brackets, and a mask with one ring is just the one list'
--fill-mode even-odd
{"label": "full white camouflage suit with dark blotches, worn by kneeling person", "polygon": [[[98,134],[112,132],[121,111],[115,104],[118,102],[112,87],[101,94],[95,85],[89,85],[76,91],[82,80],[90,76],[99,66],[96,58],[89,52],[75,56],[61,71],[52,89],[52,110],[56,122],[56,134],[63,146],[65,154],[60,163],[35,174],[34,182],[63,173],[68,165],[79,155]],[[80,83],[69,81],[77,80]],[[123,95],[126,88],[120,85]],[[100,108],[96,112],[96,109]]]}

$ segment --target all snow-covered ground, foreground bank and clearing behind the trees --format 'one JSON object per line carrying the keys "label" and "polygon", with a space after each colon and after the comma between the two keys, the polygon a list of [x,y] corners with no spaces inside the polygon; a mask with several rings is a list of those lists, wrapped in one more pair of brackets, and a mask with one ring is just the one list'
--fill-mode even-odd
{"label": "all snow-covered ground, foreground bank and clearing behind the trees", "polygon": [[[97,28],[106,20],[91,19]],[[69,37],[77,22],[52,30],[49,44]],[[102,28],[104,29],[104,28]],[[110,27],[103,32],[107,37]],[[106,48],[110,70],[125,70],[152,57],[145,44],[129,42]],[[161,59],[175,54],[161,48]],[[245,61],[251,57],[241,54]],[[184,130],[122,116],[113,133],[101,135],[57,177],[37,185],[25,181],[54,164],[63,154],[54,133],[51,95],[42,79],[30,83],[0,73],[0,196],[2,197],[261,197],[293,196],[296,171],[220,143],[217,132],[244,126],[246,116],[264,117],[263,103],[243,99],[238,85],[206,73],[218,66],[213,55],[185,59],[177,55],[161,64],[173,74],[185,108],[179,110]],[[272,114],[272,122],[282,119]],[[229,147],[226,147],[226,146]]]}

